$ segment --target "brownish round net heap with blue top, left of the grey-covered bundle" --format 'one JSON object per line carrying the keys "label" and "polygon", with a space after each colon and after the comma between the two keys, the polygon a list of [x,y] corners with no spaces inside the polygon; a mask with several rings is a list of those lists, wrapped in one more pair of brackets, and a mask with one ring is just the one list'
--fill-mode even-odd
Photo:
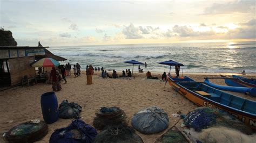
{"label": "brownish round net heap with blue top, left of the grey-covered bundle", "polygon": [[102,130],[107,125],[127,125],[126,114],[118,107],[100,108],[93,119],[93,126],[98,130]]}

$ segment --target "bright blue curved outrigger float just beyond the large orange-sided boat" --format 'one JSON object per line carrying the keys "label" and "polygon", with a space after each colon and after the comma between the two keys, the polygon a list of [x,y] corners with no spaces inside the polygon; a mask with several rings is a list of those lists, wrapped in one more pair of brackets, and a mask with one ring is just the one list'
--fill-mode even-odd
{"label": "bright blue curved outrigger float just beyond the large orange-sided boat", "polygon": [[240,92],[244,93],[246,95],[252,95],[256,96],[256,88],[247,88],[247,87],[230,87],[230,86],[225,86],[225,85],[218,85],[214,84],[209,81],[209,79],[206,77],[204,81],[207,85],[219,89],[219,90],[225,90],[225,91],[232,91],[232,92]]}

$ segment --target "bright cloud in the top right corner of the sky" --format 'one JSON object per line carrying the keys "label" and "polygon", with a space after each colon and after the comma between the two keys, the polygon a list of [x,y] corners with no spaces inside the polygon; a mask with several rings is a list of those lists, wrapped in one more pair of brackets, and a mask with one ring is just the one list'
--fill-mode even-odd
{"label": "bright cloud in the top right corner of the sky", "polygon": [[204,15],[218,15],[228,13],[254,13],[254,0],[241,0],[225,4],[214,3],[204,10]]}

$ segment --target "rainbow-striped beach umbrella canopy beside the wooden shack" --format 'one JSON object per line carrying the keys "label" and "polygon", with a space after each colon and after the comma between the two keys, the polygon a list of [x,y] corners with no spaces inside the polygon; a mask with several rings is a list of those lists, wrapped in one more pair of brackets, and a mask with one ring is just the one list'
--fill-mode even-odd
{"label": "rainbow-striped beach umbrella canopy beside the wooden shack", "polygon": [[58,61],[56,61],[55,59],[52,58],[43,58],[40,59],[34,63],[32,63],[32,67],[56,67],[59,66],[60,63]]}

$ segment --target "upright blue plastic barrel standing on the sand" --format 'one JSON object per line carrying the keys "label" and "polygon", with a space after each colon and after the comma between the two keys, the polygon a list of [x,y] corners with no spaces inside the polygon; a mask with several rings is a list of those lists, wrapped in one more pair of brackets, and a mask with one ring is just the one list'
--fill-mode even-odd
{"label": "upright blue plastic barrel standing on the sand", "polygon": [[41,95],[41,108],[45,123],[51,124],[58,120],[58,100],[55,92],[46,92]]}

